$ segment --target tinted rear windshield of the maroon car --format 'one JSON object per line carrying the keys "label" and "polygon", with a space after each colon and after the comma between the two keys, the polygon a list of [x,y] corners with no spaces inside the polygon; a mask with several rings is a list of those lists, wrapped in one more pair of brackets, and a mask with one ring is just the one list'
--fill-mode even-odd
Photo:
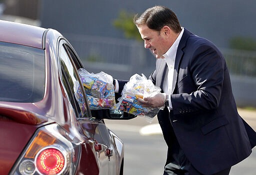
{"label": "tinted rear windshield of the maroon car", "polygon": [[0,101],[36,102],[44,94],[44,51],[0,42]]}

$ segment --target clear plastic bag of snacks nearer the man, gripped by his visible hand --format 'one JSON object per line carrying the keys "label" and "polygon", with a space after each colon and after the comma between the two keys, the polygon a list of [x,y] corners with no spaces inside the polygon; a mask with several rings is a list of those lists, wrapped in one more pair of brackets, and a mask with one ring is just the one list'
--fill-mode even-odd
{"label": "clear plastic bag of snacks nearer the man, gripped by his visible hand", "polygon": [[145,75],[134,74],[124,85],[121,97],[118,98],[119,102],[116,104],[116,110],[153,118],[160,108],[143,107],[137,99],[155,91],[161,91],[161,89],[155,86]]}

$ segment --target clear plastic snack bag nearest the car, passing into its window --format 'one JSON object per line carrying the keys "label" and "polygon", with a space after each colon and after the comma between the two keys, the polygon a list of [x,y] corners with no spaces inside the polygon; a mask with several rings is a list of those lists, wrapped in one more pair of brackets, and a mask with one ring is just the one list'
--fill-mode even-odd
{"label": "clear plastic snack bag nearest the car, passing into its window", "polygon": [[[115,109],[114,85],[111,75],[103,71],[95,74],[89,73],[83,68],[78,69],[78,74],[85,90],[90,109]],[[76,91],[79,92],[79,90]],[[79,96],[79,94],[77,95]]]}

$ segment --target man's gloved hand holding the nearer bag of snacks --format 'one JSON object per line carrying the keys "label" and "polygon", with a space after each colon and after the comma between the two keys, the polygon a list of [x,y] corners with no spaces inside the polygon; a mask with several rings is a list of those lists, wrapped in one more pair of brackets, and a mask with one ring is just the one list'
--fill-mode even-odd
{"label": "man's gloved hand holding the nearer bag of snacks", "polygon": [[144,95],[143,99],[138,98],[138,102],[145,107],[158,108],[158,107],[164,106],[166,96],[167,96],[166,93],[161,93],[159,91],[156,91],[156,92]]}

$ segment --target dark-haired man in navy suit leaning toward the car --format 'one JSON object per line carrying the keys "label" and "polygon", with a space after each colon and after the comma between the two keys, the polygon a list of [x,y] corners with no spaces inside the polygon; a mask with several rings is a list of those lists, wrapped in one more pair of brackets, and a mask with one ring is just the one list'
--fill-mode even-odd
{"label": "dark-haired man in navy suit leaning toward the car", "polygon": [[168,146],[163,174],[228,174],[251,153],[256,133],[237,112],[223,55],[164,6],[148,8],[134,23],[156,56],[149,78],[162,92],[139,101],[165,105],[157,114]]}

